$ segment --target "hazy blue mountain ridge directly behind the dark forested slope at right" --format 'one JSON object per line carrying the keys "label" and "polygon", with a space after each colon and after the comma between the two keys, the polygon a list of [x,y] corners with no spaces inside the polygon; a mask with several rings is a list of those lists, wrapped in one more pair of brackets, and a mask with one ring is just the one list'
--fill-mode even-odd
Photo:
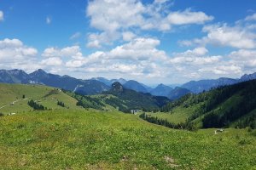
{"label": "hazy blue mountain ridge directly behind the dark forested slope at right", "polygon": [[211,80],[190,81],[190,82],[184,83],[181,86],[181,88],[187,88],[191,92],[198,94],[203,91],[208,91],[211,88],[218,88],[220,86],[231,85],[237,82],[239,82],[238,79],[222,77],[222,78],[211,79]]}

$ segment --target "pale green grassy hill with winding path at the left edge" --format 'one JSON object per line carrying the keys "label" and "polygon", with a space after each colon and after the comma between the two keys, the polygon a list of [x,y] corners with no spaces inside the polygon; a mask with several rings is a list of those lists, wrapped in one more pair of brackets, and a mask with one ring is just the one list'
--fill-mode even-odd
{"label": "pale green grassy hill with winding path at the left edge", "polygon": [[[76,99],[54,89],[55,88],[40,85],[0,83],[0,108],[7,105],[1,108],[0,112],[7,114],[32,111],[32,108],[27,105],[29,99],[37,100],[39,104],[51,109],[67,109],[67,107],[70,109],[78,108],[76,106]],[[48,95],[51,92],[55,93]],[[22,99],[23,94],[26,99]],[[61,106],[56,105],[58,100],[64,102],[67,107],[62,108]],[[17,101],[15,102],[15,105],[9,105],[14,101]]]}

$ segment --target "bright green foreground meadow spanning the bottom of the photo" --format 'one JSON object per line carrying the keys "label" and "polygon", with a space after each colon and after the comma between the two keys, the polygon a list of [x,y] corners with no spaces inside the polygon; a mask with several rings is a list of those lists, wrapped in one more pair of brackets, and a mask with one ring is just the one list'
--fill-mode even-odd
{"label": "bright green foreground meadow spanning the bottom of the photo", "polygon": [[3,169],[256,168],[256,138],[246,129],[190,133],[118,112],[67,110],[3,116],[0,126]]}

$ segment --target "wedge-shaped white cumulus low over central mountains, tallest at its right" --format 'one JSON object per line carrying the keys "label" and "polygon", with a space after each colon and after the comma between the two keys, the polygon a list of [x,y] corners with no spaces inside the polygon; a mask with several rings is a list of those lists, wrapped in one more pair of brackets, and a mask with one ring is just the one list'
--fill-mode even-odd
{"label": "wedge-shaped white cumulus low over central mountains, tallest at its right", "polygon": [[97,51],[81,59],[71,59],[66,66],[98,74],[163,76],[160,63],[166,59],[166,53],[156,48],[159,44],[158,39],[135,38],[106,52]]}

